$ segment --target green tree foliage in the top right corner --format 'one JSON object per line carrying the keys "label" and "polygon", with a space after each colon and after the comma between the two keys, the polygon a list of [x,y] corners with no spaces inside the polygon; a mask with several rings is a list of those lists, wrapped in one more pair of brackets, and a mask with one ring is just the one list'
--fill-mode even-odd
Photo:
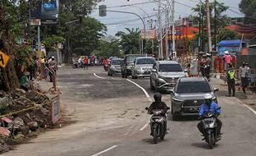
{"label": "green tree foliage in the top right corner", "polygon": [[256,1],[241,0],[239,3],[239,11],[245,15],[244,22],[247,24],[256,24]]}

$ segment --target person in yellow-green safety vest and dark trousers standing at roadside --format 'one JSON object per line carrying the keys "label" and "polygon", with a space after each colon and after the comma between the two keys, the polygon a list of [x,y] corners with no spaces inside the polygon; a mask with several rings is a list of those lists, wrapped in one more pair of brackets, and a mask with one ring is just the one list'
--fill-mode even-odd
{"label": "person in yellow-green safety vest and dark trousers standing at roadside", "polygon": [[235,69],[232,65],[229,65],[226,75],[229,91],[228,96],[231,96],[231,90],[233,92],[232,96],[235,96]]}

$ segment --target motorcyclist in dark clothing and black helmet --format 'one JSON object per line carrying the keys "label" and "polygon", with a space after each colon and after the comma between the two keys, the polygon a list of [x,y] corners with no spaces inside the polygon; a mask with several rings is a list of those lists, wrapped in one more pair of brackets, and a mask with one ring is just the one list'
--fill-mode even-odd
{"label": "motorcyclist in dark clothing and black helmet", "polygon": [[[164,131],[166,132],[167,120],[166,120],[165,113],[168,111],[168,106],[166,105],[166,103],[164,103],[162,101],[162,95],[159,93],[154,94],[154,102],[151,103],[149,106],[149,109],[148,109],[149,113],[152,113],[152,111],[154,109],[163,109],[164,110],[164,112],[163,112],[163,114],[161,114],[161,116],[164,117]],[[153,127],[151,126],[151,131],[152,131],[152,129],[153,129]]]}

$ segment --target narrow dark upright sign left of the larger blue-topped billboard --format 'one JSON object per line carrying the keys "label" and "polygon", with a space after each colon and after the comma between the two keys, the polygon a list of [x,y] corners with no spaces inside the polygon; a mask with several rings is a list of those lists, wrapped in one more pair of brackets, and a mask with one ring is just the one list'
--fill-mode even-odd
{"label": "narrow dark upright sign left of the larger blue-topped billboard", "polygon": [[30,1],[30,23],[31,25],[40,25],[40,13],[42,2],[38,0]]}

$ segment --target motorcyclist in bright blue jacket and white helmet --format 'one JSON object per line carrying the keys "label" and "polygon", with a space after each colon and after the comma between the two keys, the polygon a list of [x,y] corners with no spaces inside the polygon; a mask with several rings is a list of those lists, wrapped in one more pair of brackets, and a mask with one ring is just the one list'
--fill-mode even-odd
{"label": "motorcyclist in bright blue jacket and white helmet", "polygon": [[[205,103],[201,104],[200,106],[199,116],[202,117],[204,114],[208,112],[216,112],[217,115],[220,115],[219,105],[212,101],[212,95],[205,94],[204,99],[205,99]],[[216,122],[217,122],[218,138],[220,138],[220,130],[221,130],[222,122],[218,118],[216,118]],[[198,123],[197,128],[201,132],[201,134],[204,135],[204,127],[203,127],[202,121]]]}

